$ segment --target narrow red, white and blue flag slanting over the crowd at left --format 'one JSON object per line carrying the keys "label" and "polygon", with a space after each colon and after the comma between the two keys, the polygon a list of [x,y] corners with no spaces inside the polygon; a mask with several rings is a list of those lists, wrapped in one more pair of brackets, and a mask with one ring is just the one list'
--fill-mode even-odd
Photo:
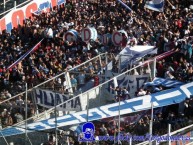
{"label": "narrow red, white and blue flag slanting over the crowd at left", "polygon": [[7,70],[12,69],[13,67],[15,67],[19,62],[21,62],[23,59],[25,59],[31,52],[37,50],[39,48],[39,46],[41,45],[41,42],[43,41],[43,39],[38,42],[32,49],[28,50],[24,55],[22,55],[18,60],[16,60],[13,64],[11,64]]}

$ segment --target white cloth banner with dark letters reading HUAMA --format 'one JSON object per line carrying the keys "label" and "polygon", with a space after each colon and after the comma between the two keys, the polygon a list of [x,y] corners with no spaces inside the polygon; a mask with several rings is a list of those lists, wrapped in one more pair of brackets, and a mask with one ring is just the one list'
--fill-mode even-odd
{"label": "white cloth banner with dark letters reading HUAMA", "polygon": [[57,107],[57,110],[81,111],[80,97],[70,99],[71,97],[69,95],[63,95],[42,89],[34,89],[34,97],[38,105],[46,108],[53,108],[55,105],[59,105],[63,102],[66,102]]}

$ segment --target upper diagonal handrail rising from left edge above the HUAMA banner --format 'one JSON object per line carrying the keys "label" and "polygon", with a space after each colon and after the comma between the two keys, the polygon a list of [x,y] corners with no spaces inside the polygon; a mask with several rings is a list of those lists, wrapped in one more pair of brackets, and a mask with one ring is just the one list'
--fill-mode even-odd
{"label": "upper diagonal handrail rising from left edge above the HUAMA banner", "polygon": [[[87,60],[86,62],[81,63],[81,64],[75,66],[74,68],[69,69],[67,72],[73,71],[74,69],[76,69],[76,68],[78,68],[78,67],[81,67],[82,65],[84,65],[84,64],[86,64],[86,63],[88,63],[88,62],[90,62],[90,61],[92,61],[92,60],[94,60],[94,59],[96,59],[96,58],[104,55],[104,54],[107,54],[107,53],[101,53],[101,54],[99,54],[99,55],[97,55],[97,56],[95,56],[95,57]],[[57,76],[55,76],[55,77],[53,77],[53,78],[50,78],[50,79],[48,79],[47,81],[44,81],[44,82],[42,82],[42,83],[34,86],[33,88],[28,89],[27,92],[28,92],[28,91],[31,91],[31,90],[34,89],[34,88],[37,88],[37,87],[39,87],[39,86],[42,86],[43,84],[48,83],[48,82],[50,82],[50,81],[52,81],[52,80],[54,80],[54,79],[56,79],[56,78],[64,75],[65,73],[66,73],[66,72],[63,72],[63,73],[61,73],[61,74],[59,74],[59,75],[57,75]],[[16,97],[18,97],[18,96],[20,96],[20,95],[23,95],[24,93],[25,93],[25,91],[22,92],[22,93],[19,93],[19,94],[15,95],[15,96],[13,96],[13,97],[11,97],[11,98],[9,98],[9,99],[3,100],[2,102],[0,102],[0,105],[1,105],[2,103],[4,103],[4,102],[7,102],[7,101],[9,101],[9,100],[12,100],[12,99],[14,99],[14,98],[16,98]]]}

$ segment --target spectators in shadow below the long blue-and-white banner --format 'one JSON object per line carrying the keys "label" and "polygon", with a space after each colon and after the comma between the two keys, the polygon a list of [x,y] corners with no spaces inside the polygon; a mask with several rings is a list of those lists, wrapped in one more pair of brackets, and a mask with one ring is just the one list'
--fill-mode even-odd
{"label": "spectators in shadow below the long blue-and-white banner", "polygon": [[[185,126],[192,124],[193,113],[191,109],[193,108],[193,99],[187,99],[184,102],[185,112],[178,113],[178,105],[171,105],[163,108],[158,108],[154,110],[153,115],[153,135],[165,135],[168,133],[168,124],[171,124],[171,131],[181,129]],[[123,115],[121,116],[120,121],[120,132],[119,132],[119,123],[118,117],[112,117],[108,119],[93,121],[95,125],[95,140],[90,143],[90,145],[112,145],[118,143],[118,134],[120,133],[122,138],[127,136],[127,140],[122,140],[119,144],[128,145],[130,143],[130,138],[132,143],[137,144],[143,141],[150,139],[149,136],[149,125],[151,114],[149,111],[138,112],[135,115]],[[140,115],[138,115],[140,114]],[[134,119],[131,119],[132,116],[137,116]],[[139,117],[140,116],[140,117]],[[86,143],[80,142],[78,137],[83,134],[79,134],[77,137],[77,132],[73,131],[58,131],[58,143],[59,144],[80,144],[84,145]],[[106,137],[106,140],[99,140],[99,138]],[[112,139],[111,137],[114,137]],[[116,138],[115,138],[116,137]],[[184,138],[184,140],[189,140],[189,137]],[[55,133],[52,132],[49,135],[49,141],[45,143],[51,144],[56,141]],[[153,141],[153,140],[152,140]],[[159,141],[159,139],[157,139]]]}

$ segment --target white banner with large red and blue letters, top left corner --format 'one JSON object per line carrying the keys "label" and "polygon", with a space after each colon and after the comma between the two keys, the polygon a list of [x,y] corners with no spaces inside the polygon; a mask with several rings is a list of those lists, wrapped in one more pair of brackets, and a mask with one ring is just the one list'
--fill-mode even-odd
{"label": "white banner with large red and blue letters, top left corner", "polygon": [[37,11],[49,11],[57,5],[65,3],[66,0],[33,0],[21,8],[14,9],[6,14],[0,20],[0,32],[7,29],[11,32],[12,28],[17,28],[18,25],[23,25],[26,18],[30,18],[32,13]]}

